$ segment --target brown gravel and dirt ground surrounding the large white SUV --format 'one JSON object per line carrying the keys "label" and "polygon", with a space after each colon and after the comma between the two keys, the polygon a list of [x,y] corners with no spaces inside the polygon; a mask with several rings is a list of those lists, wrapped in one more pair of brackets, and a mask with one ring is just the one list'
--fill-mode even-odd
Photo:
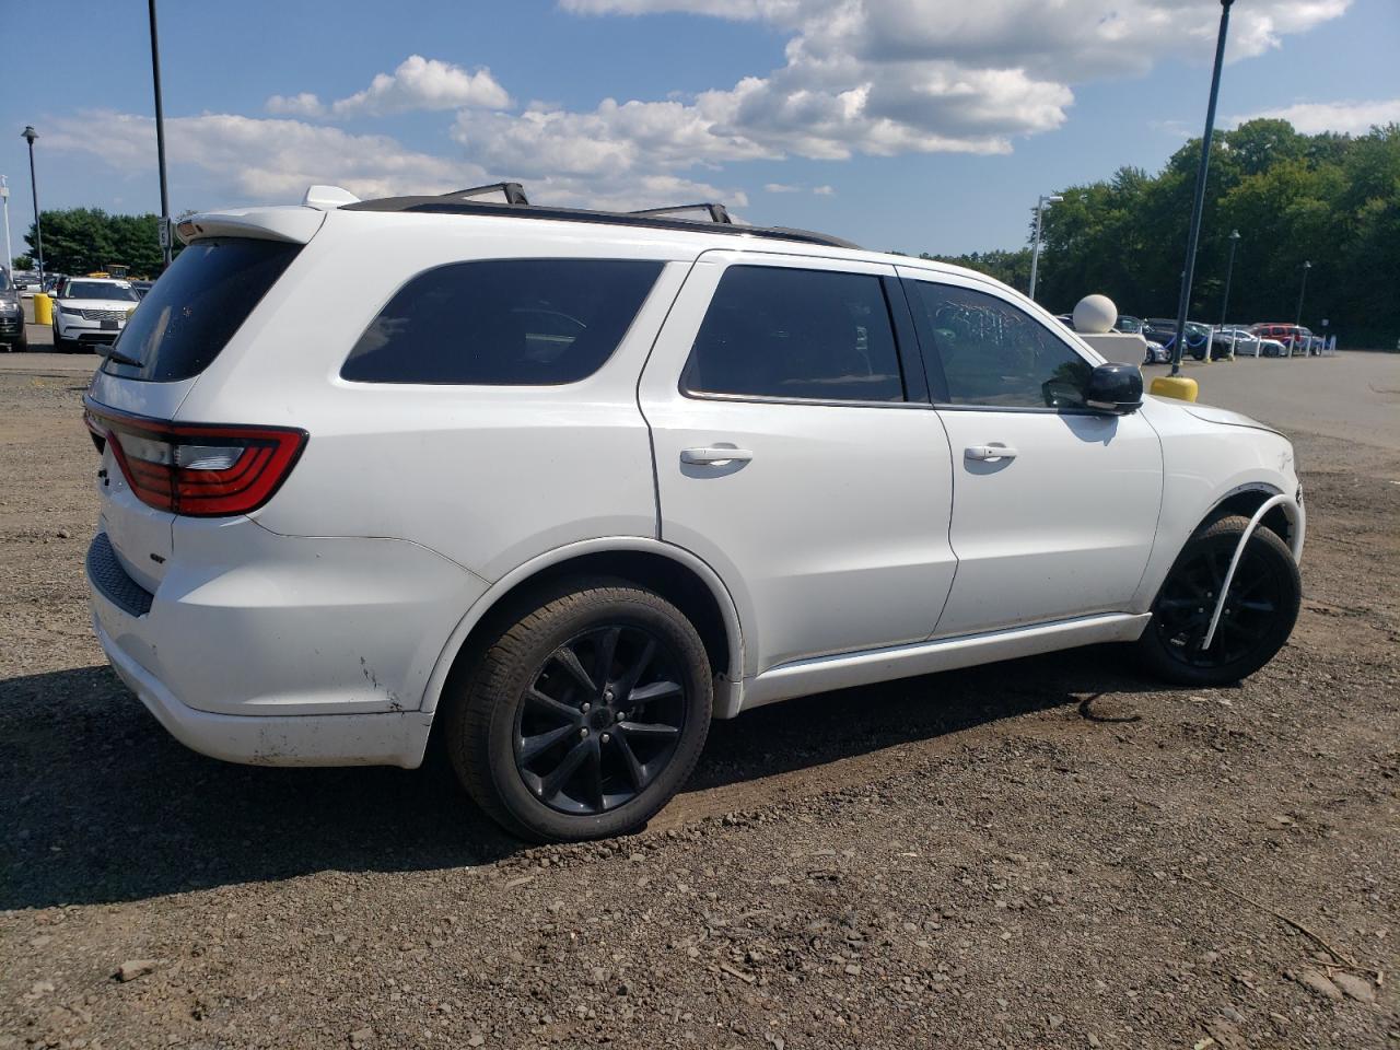
{"label": "brown gravel and dirt ground surrounding the large white SUV", "polygon": [[1099,648],[780,704],[567,848],[441,770],[171,741],[87,623],[83,365],[6,365],[0,1047],[1400,1046],[1400,358],[1193,372],[1303,463],[1249,682]]}

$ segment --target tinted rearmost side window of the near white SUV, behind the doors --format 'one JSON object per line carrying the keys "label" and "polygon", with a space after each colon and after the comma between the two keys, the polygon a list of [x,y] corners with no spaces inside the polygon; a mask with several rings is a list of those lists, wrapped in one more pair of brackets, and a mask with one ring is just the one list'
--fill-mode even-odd
{"label": "tinted rearmost side window of the near white SUV, behind the doors", "polygon": [[354,382],[553,386],[598,371],[661,273],[630,259],[491,259],[410,280],[344,365]]}

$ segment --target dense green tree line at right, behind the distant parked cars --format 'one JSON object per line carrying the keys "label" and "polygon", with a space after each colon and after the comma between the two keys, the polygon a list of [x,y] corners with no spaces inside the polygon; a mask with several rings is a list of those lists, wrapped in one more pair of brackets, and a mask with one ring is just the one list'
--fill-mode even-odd
{"label": "dense green tree line at right, behind the distant parked cars", "polygon": [[[1176,316],[1200,140],[1156,175],[1056,190],[1044,211],[1036,300],[1054,312],[1103,293],[1124,314]],[[1239,230],[1229,322],[1292,322],[1310,262],[1302,323],[1330,322],[1344,346],[1394,347],[1400,337],[1400,125],[1368,134],[1301,134],[1287,120],[1250,120],[1211,140],[1193,321],[1218,323],[1232,230]],[[1028,241],[1033,238],[1033,231]],[[1030,248],[924,258],[967,266],[1021,291]]]}

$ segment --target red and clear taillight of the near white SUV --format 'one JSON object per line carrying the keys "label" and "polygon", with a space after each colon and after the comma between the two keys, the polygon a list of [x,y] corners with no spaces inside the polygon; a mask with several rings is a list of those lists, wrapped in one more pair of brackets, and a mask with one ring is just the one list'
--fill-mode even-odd
{"label": "red and clear taillight of the near white SUV", "polygon": [[196,518],[248,514],[272,498],[307,444],[290,427],[162,423],[84,400],[84,423],[151,507]]}

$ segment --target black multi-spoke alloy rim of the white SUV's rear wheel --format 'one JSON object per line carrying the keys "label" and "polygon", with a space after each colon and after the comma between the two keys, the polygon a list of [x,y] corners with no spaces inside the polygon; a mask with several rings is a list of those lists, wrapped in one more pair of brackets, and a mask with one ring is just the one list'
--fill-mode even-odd
{"label": "black multi-spoke alloy rim of the white SUV's rear wheel", "polygon": [[517,713],[515,769],[561,813],[605,813],[651,784],[686,724],[685,679],[662,638],[627,624],[554,650]]}

